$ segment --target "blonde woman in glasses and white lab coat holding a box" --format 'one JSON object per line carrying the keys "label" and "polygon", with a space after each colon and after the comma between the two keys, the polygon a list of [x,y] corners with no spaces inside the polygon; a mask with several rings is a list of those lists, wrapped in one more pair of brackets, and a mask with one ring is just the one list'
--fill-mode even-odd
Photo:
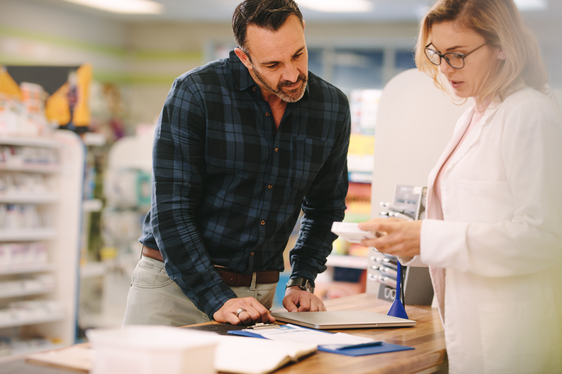
{"label": "blonde woman in glasses and white lab coat holding a box", "polygon": [[[513,0],[441,0],[416,64],[476,104],[429,175],[427,219],[364,241],[429,266],[450,373],[562,373],[562,113]],[[427,113],[438,118],[439,113]]]}

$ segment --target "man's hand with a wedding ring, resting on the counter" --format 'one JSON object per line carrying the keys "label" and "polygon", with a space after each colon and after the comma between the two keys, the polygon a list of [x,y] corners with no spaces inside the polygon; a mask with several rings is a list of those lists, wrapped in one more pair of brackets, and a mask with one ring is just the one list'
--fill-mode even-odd
{"label": "man's hand with a wedding ring, resting on the counter", "polygon": [[[236,316],[239,308],[246,311]],[[269,314],[269,311],[253,297],[229,299],[215,312],[213,318],[217,322],[228,322],[231,325],[273,324],[275,322],[275,318]]]}

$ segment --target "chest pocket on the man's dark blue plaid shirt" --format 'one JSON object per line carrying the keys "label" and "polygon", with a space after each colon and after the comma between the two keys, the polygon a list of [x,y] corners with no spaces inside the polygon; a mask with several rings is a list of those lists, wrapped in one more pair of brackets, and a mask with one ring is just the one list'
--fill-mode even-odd
{"label": "chest pocket on the man's dark blue plaid shirt", "polygon": [[328,142],[294,136],[291,140],[291,186],[304,190],[314,181],[328,153]]}

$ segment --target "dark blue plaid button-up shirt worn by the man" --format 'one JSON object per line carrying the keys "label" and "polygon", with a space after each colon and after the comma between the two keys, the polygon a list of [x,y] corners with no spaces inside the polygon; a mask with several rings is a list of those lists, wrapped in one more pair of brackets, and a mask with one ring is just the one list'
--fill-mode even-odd
{"label": "dark blue plaid button-up shirt worn by the man", "polygon": [[278,131],[270,113],[232,51],[178,77],[160,114],[139,241],[160,250],[166,273],[210,318],[236,297],[213,265],[283,271],[302,208],[291,278],[314,280],[336,239],[332,222],[346,209],[346,96],[309,72]]}

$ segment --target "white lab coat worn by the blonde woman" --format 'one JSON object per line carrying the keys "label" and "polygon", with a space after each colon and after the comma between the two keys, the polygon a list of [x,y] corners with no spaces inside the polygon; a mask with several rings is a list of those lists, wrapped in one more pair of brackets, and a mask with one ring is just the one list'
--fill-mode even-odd
{"label": "white lab coat worn by the blonde woman", "polygon": [[405,265],[430,266],[451,374],[562,373],[562,113],[529,87],[488,108],[443,172],[441,209],[434,182],[473,113],[429,175]]}

